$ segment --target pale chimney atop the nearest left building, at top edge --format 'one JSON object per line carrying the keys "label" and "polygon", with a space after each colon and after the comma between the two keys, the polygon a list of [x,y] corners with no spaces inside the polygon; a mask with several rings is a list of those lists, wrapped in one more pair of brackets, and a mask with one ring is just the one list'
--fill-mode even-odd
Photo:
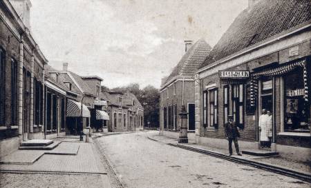
{"label": "pale chimney atop the nearest left building, at top edge", "polygon": [[21,21],[23,21],[23,24],[28,28],[28,30],[31,30],[30,26],[30,8],[31,8],[31,2],[30,0],[9,0],[12,4],[13,8],[17,12],[19,18]]}

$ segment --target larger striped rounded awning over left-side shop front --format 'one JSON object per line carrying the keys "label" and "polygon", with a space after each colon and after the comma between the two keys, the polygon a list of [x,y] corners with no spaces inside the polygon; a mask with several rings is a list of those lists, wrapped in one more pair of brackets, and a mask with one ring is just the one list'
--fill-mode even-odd
{"label": "larger striped rounded awning over left-side shop front", "polygon": [[[68,100],[66,116],[67,117],[81,117],[81,103]],[[86,107],[86,105],[83,105],[83,104],[82,104],[82,117],[84,118],[91,117],[88,107]]]}

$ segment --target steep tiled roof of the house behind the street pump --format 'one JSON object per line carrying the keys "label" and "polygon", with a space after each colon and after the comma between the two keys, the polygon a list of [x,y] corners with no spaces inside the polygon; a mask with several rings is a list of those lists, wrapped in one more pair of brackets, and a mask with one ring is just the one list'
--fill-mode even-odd
{"label": "steep tiled roof of the house behind the street pump", "polygon": [[203,63],[208,56],[211,47],[205,42],[204,39],[198,40],[191,48],[182,56],[176,67],[166,79],[165,83],[172,81],[176,76],[190,76],[194,77],[194,73],[198,67]]}

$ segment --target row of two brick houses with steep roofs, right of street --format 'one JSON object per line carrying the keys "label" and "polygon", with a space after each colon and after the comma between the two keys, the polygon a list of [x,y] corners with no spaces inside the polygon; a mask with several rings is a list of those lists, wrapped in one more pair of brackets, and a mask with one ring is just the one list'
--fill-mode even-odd
{"label": "row of two brick houses with steep roofs, right of street", "polygon": [[[234,116],[242,149],[263,149],[258,118],[272,112],[271,151],[310,160],[311,4],[250,0],[214,48],[197,41],[160,89],[160,133],[178,137],[181,105],[196,143],[227,148]],[[192,133],[191,133],[192,132]]]}

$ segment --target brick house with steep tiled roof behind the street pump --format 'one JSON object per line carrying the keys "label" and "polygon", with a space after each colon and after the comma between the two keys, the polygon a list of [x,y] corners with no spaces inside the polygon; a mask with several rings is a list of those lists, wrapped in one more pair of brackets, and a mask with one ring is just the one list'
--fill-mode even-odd
{"label": "brick house with steep tiled roof behind the street pump", "polygon": [[[186,43],[186,50],[187,45]],[[198,40],[182,56],[171,74],[162,79],[160,87],[160,132],[177,138],[180,131],[178,112],[185,105],[188,115],[188,130],[195,130],[194,75],[209,54],[211,47]]]}

